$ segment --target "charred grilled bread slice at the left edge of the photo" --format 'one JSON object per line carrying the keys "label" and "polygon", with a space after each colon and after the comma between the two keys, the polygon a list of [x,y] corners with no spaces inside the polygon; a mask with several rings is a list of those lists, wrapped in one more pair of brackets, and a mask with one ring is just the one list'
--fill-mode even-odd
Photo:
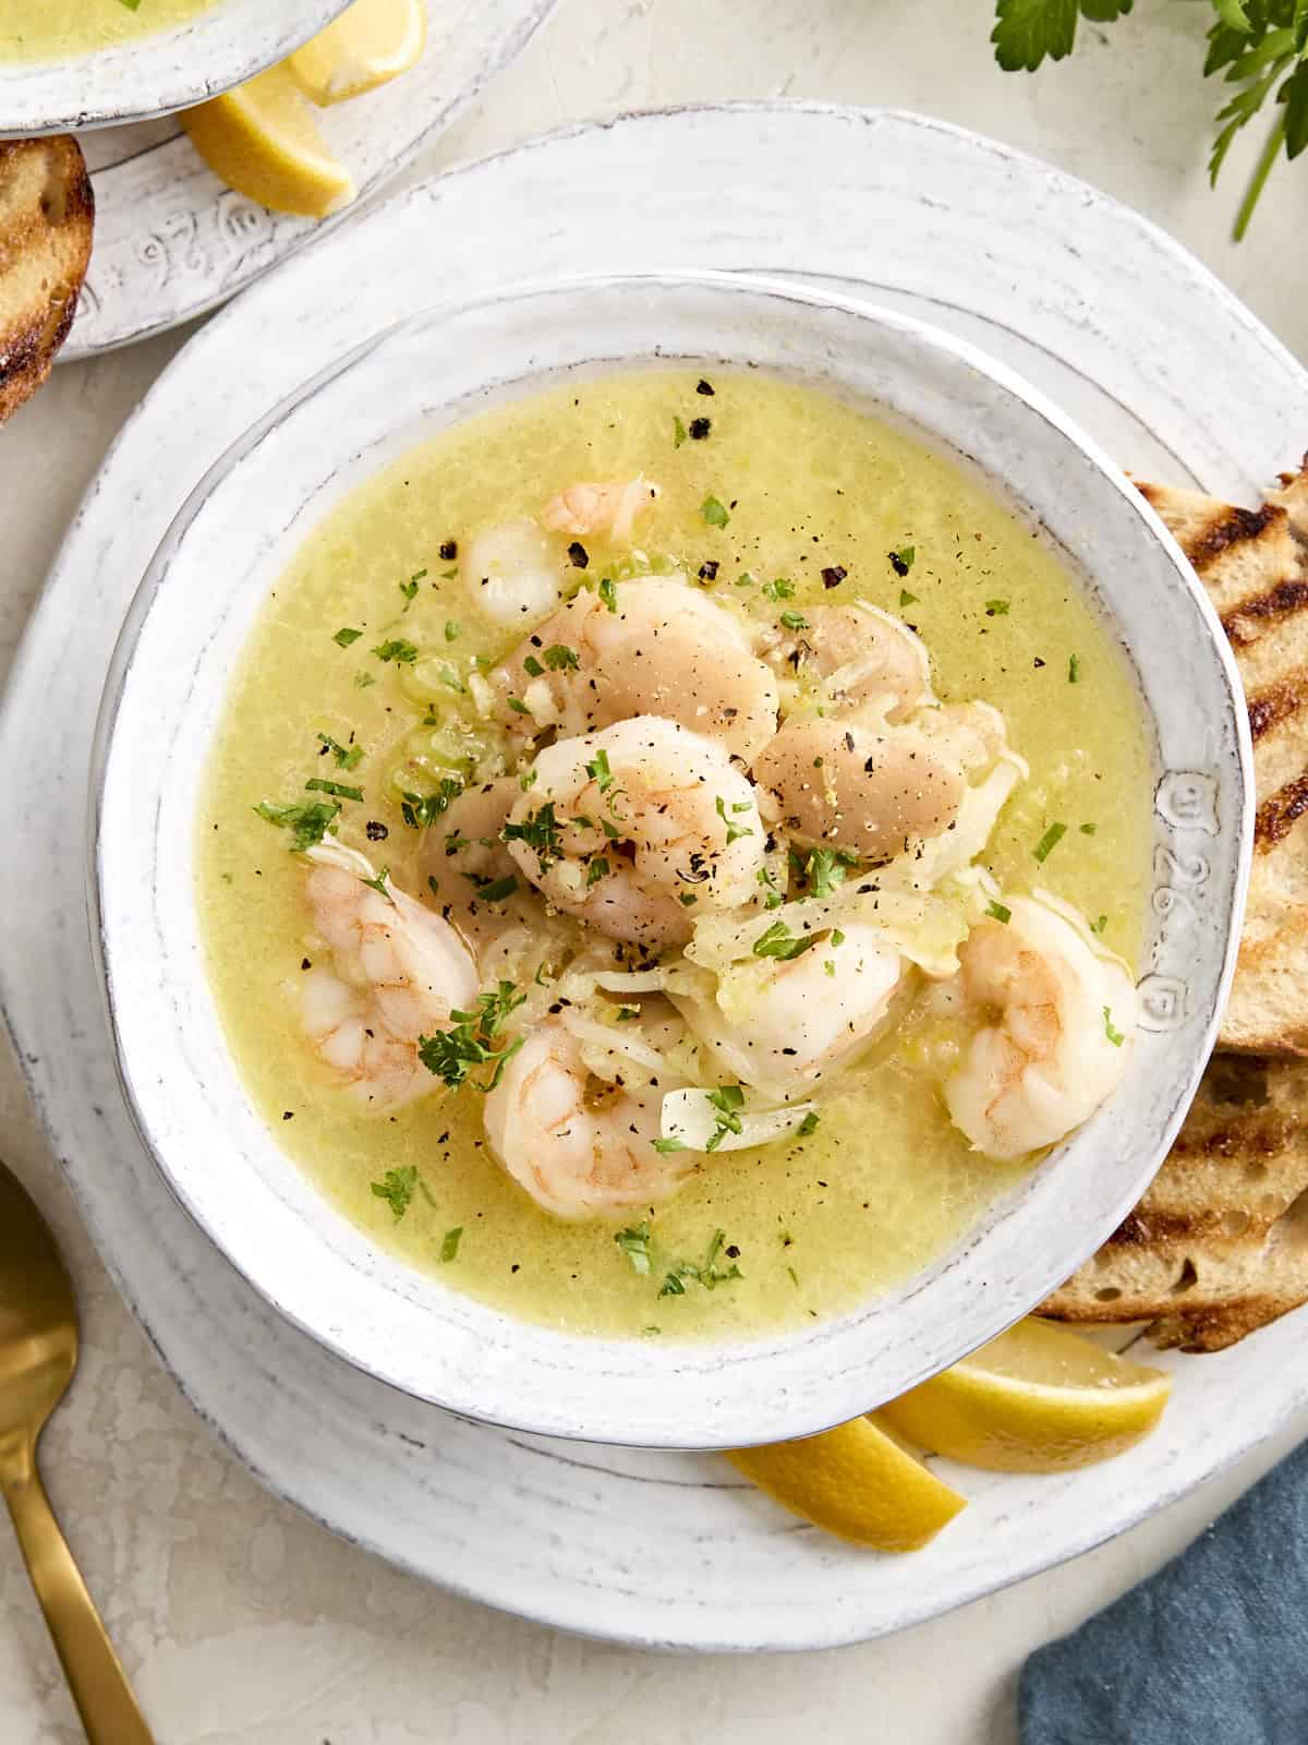
{"label": "charred grilled bread slice at the left edge of the photo", "polygon": [[92,229],[77,140],[0,140],[0,424],[40,387],[68,337]]}

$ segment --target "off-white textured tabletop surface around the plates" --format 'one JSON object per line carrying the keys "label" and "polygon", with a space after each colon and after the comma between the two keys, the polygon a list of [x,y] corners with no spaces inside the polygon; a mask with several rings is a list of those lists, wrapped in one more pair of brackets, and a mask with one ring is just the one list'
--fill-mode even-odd
{"label": "off-white textured tabletop surface around the plates", "polygon": [[[1303,178],[1280,176],[1250,244],[1226,246],[1219,215],[1230,213],[1231,190],[1214,202],[1202,174],[1212,96],[1184,72],[1196,54],[1191,9],[1116,26],[1113,52],[1090,42],[1081,65],[1032,84],[991,72],[985,9],[977,5],[970,35],[961,10],[957,0],[893,10],[869,0],[760,0],[745,28],[727,0],[623,10],[574,0],[501,82],[494,108],[441,157],[621,103],[781,89],[910,103],[987,127],[1134,199],[1196,246],[1292,349],[1308,352],[1308,307],[1294,295],[1298,269],[1284,248],[1303,211]],[[0,440],[5,644],[119,421],[173,347],[155,342],[61,372]],[[1196,384],[1207,361],[1196,361]],[[1029,1647],[1184,1543],[1291,1441],[1282,1434],[1236,1473],[1080,1564],[839,1659],[687,1665],[596,1649],[441,1597],[270,1502],[159,1375],[77,1230],[12,1077],[3,1108],[5,1150],[56,1215],[87,1312],[85,1366],[49,1440],[52,1490],[160,1738],[176,1745],[609,1745],[703,1731],[771,1742],[794,1738],[818,1708],[832,1740],[867,1738],[875,1715],[886,1736],[916,1745],[1008,1745],[1012,1672]],[[1205,1433],[1195,1426],[1196,1438]],[[77,1731],[54,1659],[2,1553],[0,1605],[0,1736],[72,1745]],[[945,1661],[947,1680],[938,1675]]]}

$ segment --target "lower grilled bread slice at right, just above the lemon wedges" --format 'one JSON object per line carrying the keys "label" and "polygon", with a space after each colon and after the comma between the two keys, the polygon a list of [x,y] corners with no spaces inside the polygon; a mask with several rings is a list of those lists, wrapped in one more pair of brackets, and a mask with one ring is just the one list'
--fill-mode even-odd
{"label": "lower grilled bread slice at right, just above the lemon wedges", "polygon": [[1135,1211],[1039,1314],[1221,1351],[1308,1300],[1308,1063],[1217,1054]]}

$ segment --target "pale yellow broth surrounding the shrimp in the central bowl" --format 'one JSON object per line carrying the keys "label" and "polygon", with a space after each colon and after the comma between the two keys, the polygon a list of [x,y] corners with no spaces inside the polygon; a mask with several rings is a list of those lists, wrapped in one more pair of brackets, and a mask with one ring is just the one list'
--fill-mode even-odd
{"label": "pale yellow broth surrounding the shrimp in the central bowl", "polygon": [[[783,609],[762,586],[774,578],[794,585],[788,609],[865,599],[902,612],[931,649],[938,693],[1001,708],[1031,763],[984,864],[1006,892],[1046,888],[1076,904],[1132,967],[1142,934],[1146,729],[1125,661],[1064,565],[982,483],[903,431],[766,375],[719,372],[710,386],[706,396],[694,375],[659,370],[541,393],[358,489],[267,602],[201,792],[197,900],[213,989],[281,1146],[378,1244],[443,1284],[572,1331],[734,1337],[835,1316],[930,1263],[1038,1166],[970,1150],[910,1012],[823,1092],[809,1138],[705,1157],[673,1199],[619,1220],[649,1227],[651,1269],[638,1272],[616,1223],[549,1216],[502,1173],[478,1092],[438,1087],[387,1117],[363,1113],[331,1082],[296,1017],[296,977],[317,956],[305,864],[255,804],[342,775],[316,735],[363,747],[342,780],[364,797],[342,803],[340,839],[419,890],[419,832],[403,824],[396,789],[426,792],[457,773],[450,726],[469,705],[445,679],[516,642],[478,619],[443,544],[539,515],[576,480],[644,469],[663,487],[638,530],[656,565],[696,578],[717,564],[701,585],[766,621]],[[706,436],[682,438],[705,417]],[[710,496],[727,506],[726,527],[705,520]],[[591,574],[616,557],[586,544]],[[900,576],[889,553],[907,546],[914,560]],[[835,567],[848,574],[828,588],[821,571]],[[342,628],[363,635],[342,646]],[[419,660],[370,653],[387,639],[410,640]],[[370,820],[384,841],[368,839]],[[1039,862],[1034,848],[1055,822],[1066,834]],[[403,1216],[373,1192],[396,1169],[417,1171]],[[443,1260],[453,1230],[457,1253]],[[719,1270],[734,1265],[739,1277],[661,1297],[666,1272],[703,1262],[719,1232]]]}

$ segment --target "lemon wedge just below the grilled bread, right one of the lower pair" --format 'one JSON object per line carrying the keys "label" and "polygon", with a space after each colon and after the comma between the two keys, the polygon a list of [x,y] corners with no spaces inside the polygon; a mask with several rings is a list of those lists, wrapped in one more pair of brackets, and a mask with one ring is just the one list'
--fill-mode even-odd
{"label": "lemon wedge just below the grilled bread, right one of the lower pair", "polygon": [[1170,1377],[1088,1338],[1018,1321],[881,1408],[919,1448],[998,1473],[1062,1473],[1125,1454],[1158,1424]]}

